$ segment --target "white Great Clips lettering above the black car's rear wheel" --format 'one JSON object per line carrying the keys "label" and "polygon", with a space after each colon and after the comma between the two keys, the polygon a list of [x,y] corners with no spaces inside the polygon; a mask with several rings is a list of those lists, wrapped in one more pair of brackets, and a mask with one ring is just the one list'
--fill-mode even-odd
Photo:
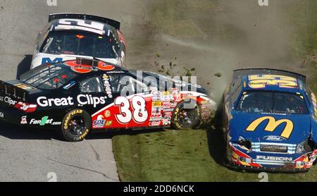
{"label": "white Great Clips lettering above the black car's rear wheel", "polygon": [[[79,94],[77,96],[78,106],[93,105],[96,107],[99,104],[106,104],[107,97],[92,97],[91,94]],[[75,104],[73,97],[52,98],[38,97],[37,104],[42,107],[47,106],[73,106]]]}

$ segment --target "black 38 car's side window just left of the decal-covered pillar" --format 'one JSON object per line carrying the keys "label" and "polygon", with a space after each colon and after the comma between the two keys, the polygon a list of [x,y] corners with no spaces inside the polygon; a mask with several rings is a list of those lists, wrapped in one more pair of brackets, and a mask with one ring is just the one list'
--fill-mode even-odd
{"label": "black 38 car's side window just left of the decal-covered pillar", "polygon": [[99,77],[88,78],[80,82],[80,92],[104,92],[104,85]]}

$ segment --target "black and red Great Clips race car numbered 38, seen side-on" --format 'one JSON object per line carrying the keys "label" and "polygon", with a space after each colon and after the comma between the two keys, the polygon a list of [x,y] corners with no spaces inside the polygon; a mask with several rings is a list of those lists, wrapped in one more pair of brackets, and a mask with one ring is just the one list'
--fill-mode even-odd
{"label": "black and red Great Clips race car numbered 38, seen side-on", "polygon": [[193,128],[214,106],[199,85],[89,59],[0,82],[0,120],[54,128],[68,141],[83,140],[91,129]]}

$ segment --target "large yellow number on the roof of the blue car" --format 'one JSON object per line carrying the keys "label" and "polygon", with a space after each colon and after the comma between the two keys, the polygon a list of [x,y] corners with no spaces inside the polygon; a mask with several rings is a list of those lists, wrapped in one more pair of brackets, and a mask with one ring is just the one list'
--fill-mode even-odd
{"label": "large yellow number on the roof of the blue car", "polygon": [[279,85],[285,88],[298,87],[296,78],[284,75],[249,75],[249,87],[257,89],[267,85]]}

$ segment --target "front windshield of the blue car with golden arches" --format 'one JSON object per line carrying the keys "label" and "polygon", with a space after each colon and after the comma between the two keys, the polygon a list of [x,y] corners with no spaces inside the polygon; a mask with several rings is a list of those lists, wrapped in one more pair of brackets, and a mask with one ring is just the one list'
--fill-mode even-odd
{"label": "front windshield of the blue car with golden arches", "polygon": [[268,114],[308,114],[302,94],[289,92],[243,92],[237,111]]}

